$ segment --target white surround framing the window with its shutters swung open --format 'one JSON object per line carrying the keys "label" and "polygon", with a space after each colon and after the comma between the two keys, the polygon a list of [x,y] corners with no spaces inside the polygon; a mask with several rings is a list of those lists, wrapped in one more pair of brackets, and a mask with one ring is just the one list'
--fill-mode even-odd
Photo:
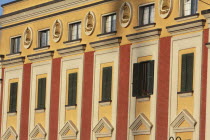
{"label": "white surround framing the window with its shutters swung open", "polygon": [[[133,64],[137,63],[139,57],[152,56],[155,61],[154,65],[154,88],[153,94],[150,96],[151,110],[150,110],[150,122],[154,125],[151,129],[150,140],[155,139],[156,134],[156,104],[157,104],[157,74],[158,74],[158,50],[159,50],[159,40],[149,41],[145,43],[139,43],[131,46],[131,60],[130,60],[130,81],[129,81],[129,110],[128,110],[128,126],[136,120],[136,102],[138,99],[132,97],[132,82],[133,82]],[[128,127],[128,139],[134,140],[132,131]]]}

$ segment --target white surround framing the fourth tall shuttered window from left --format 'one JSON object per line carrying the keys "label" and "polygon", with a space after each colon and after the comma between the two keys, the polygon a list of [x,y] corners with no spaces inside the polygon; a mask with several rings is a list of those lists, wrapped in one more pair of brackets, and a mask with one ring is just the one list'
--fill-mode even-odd
{"label": "white surround framing the fourth tall shuttered window from left", "polygon": [[[92,124],[91,130],[99,122],[99,90],[100,83],[98,82],[100,79],[100,64],[113,62],[113,89],[112,89],[112,120],[109,120],[112,124],[114,130],[112,132],[112,136],[110,140],[116,139],[116,123],[117,123],[117,99],[118,99],[118,72],[119,72],[119,48],[113,48],[104,51],[97,51],[94,53],[94,75],[93,75],[93,94],[92,94]],[[95,133],[91,132],[91,140],[97,140],[95,137]]]}

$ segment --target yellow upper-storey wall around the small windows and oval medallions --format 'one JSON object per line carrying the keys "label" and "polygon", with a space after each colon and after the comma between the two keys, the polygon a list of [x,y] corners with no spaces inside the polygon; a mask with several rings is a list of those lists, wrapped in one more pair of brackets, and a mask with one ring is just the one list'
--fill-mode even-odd
{"label": "yellow upper-storey wall around the small windows and oval medallions", "polygon": [[[42,0],[25,0],[23,2],[27,3],[28,1],[30,1],[31,5],[34,5],[34,3],[42,3],[44,1]],[[50,1],[50,0],[45,0],[45,1]],[[95,0],[93,2],[88,2],[89,3],[94,3],[96,1],[100,1],[100,0]],[[21,9],[23,8],[23,2],[18,2],[16,4],[12,4],[11,6],[6,6],[5,7],[5,11],[9,11],[9,9],[14,9],[14,7],[16,7],[15,9]],[[94,49],[90,47],[89,43],[92,41],[98,41],[98,40],[103,40],[103,39],[107,39],[110,37],[116,37],[116,36],[122,36],[122,42],[121,45],[124,44],[130,44],[131,42],[127,40],[126,35],[128,34],[132,34],[132,33],[136,33],[136,32],[140,32],[140,31],[146,31],[146,30],[152,30],[152,29],[157,29],[157,28],[162,28],[162,33],[161,33],[161,37],[166,37],[166,36],[171,36],[168,31],[166,30],[166,26],[170,26],[170,25],[176,25],[176,24],[180,24],[180,23],[184,23],[187,21],[193,21],[193,20],[198,20],[198,19],[204,19],[204,17],[200,14],[199,18],[196,19],[191,19],[191,20],[187,20],[187,21],[182,21],[182,22],[177,22],[174,20],[174,18],[179,16],[179,2],[178,0],[174,0],[173,1],[173,10],[171,12],[171,15],[166,18],[166,19],[162,19],[159,16],[158,11],[158,0],[141,0],[141,1],[136,1],[136,0],[130,0],[130,3],[133,6],[133,18],[132,21],[130,23],[130,25],[127,28],[122,28],[120,26],[119,23],[119,8],[121,6],[121,4],[124,2],[124,0],[122,1],[112,1],[112,2],[107,2],[105,4],[102,5],[97,5],[94,7],[89,7],[86,9],[81,9],[78,11],[73,11],[71,13],[65,13],[65,14],[61,14],[61,15],[57,15],[54,17],[50,17],[50,18],[45,18],[42,20],[37,20],[34,22],[30,22],[27,24],[22,24],[19,26],[15,26],[15,27],[11,27],[11,28],[7,28],[7,29],[3,29],[2,32],[2,36],[3,38],[1,38],[0,40],[0,52],[2,54],[9,54],[10,52],[10,37],[12,36],[16,36],[16,35],[22,35],[23,36],[23,32],[25,30],[26,27],[31,27],[33,30],[33,43],[32,46],[29,49],[25,49],[23,47],[23,43],[21,45],[21,52],[22,52],[22,56],[26,56],[29,54],[34,54],[34,53],[39,53],[39,52],[43,52],[43,51],[34,51],[33,49],[36,48],[38,46],[38,30],[41,29],[45,29],[45,28],[50,28],[50,49],[49,50],[57,50],[60,48],[65,48],[65,47],[69,47],[69,46],[74,46],[74,45],[78,45],[78,43],[73,44],[73,45],[65,45],[63,44],[64,41],[68,40],[68,23],[70,22],[74,22],[74,21],[78,21],[81,20],[82,21],[82,42],[81,44],[87,44],[86,47],[86,52],[88,51],[93,51]],[[138,25],[138,6],[145,4],[145,3],[151,3],[151,2],[155,2],[155,23],[156,26],[153,28],[148,28],[148,29],[143,29],[143,30],[139,30],[136,31],[135,29],[133,29],[134,26]],[[202,10],[205,9],[209,9],[208,5],[202,3],[201,1],[198,2],[199,6],[198,6],[198,12],[201,13]],[[111,6],[110,6],[111,5]],[[25,6],[29,6],[29,5],[25,5]],[[77,6],[74,6],[78,7]],[[101,10],[103,9],[103,10]],[[65,9],[67,10],[67,9]],[[95,13],[96,16],[96,28],[93,32],[92,35],[87,36],[84,33],[84,18],[85,18],[85,14],[88,11],[93,11]],[[113,36],[109,36],[109,37],[97,37],[98,34],[101,34],[101,16],[103,14],[107,14],[107,13],[112,13],[112,12],[116,12],[117,13],[117,34],[113,35]],[[58,43],[55,43],[52,41],[52,24],[56,19],[60,19],[63,23],[63,36],[61,38],[61,40]],[[205,28],[207,28],[207,26],[205,26]],[[49,51],[49,50],[44,50],[44,51]],[[54,58],[60,57],[58,55],[57,52],[55,52]],[[5,59],[8,59],[8,57],[5,57]],[[30,61],[26,58],[25,63],[29,63]]]}

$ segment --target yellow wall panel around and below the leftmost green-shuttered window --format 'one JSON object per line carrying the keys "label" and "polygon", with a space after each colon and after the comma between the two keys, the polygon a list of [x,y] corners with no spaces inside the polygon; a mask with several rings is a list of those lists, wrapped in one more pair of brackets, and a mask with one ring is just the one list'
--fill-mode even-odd
{"label": "yellow wall panel around and below the leftmost green-shuttered window", "polygon": [[[8,112],[9,112],[9,104],[10,104],[10,84],[18,82],[18,81],[19,81],[19,79],[9,80],[9,86],[8,86],[8,96],[9,96],[9,98],[8,98],[8,105],[7,105]],[[18,96],[18,93],[17,93],[17,96]],[[17,101],[17,108],[18,108],[18,101]],[[14,129],[17,128],[17,113],[7,114],[7,127],[10,127],[10,126],[12,126]]]}

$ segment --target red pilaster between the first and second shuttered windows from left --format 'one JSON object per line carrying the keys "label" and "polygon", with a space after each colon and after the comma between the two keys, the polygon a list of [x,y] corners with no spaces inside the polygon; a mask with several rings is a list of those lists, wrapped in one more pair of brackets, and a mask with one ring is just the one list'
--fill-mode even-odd
{"label": "red pilaster between the first and second shuttered windows from left", "polygon": [[24,64],[23,83],[22,83],[21,120],[20,120],[20,140],[28,139],[30,83],[31,83],[31,64]]}

